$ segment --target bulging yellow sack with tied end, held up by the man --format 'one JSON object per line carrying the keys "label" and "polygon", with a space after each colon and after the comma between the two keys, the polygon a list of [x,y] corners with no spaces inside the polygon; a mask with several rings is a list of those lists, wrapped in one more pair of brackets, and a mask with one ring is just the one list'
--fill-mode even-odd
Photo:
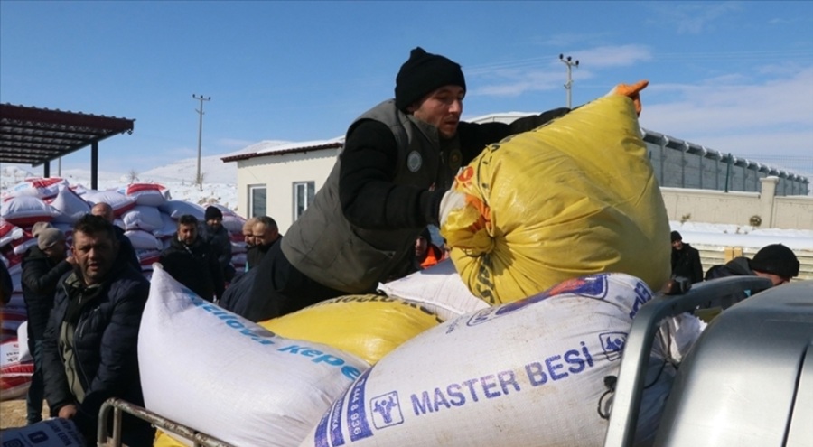
{"label": "bulging yellow sack with tied end, held up by the man", "polygon": [[630,98],[491,144],[455,178],[441,235],[472,293],[509,303],[582,275],[668,281],[669,226]]}

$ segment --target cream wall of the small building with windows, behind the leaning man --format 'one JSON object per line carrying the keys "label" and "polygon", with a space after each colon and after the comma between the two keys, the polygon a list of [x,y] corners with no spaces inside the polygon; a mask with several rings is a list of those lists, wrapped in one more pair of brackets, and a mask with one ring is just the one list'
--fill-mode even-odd
{"label": "cream wall of the small building with windows, behind the leaning man", "polygon": [[238,161],[239,214],[248,217],[249,188],[265,185],[266,214],[285,234],[294,223],[294,182],[314,182],[319,191],[338,155],[338,149],[320,149]]}

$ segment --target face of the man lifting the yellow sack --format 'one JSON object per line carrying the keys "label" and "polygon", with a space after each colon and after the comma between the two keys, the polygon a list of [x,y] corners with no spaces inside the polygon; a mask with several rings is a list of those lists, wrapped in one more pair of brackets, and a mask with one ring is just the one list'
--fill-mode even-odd
{"label": "face of the man lifting the yellow sack", "polygon": [[426,95],[407,110],[417,119],[437,127],[444,138],[452,138],[457,134],[465,96],[466,91],[460,86],[444,86]]}

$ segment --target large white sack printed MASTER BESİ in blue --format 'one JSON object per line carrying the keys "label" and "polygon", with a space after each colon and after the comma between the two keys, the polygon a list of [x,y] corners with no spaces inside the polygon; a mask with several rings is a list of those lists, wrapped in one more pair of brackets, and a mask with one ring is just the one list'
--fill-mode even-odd
{"label": "large white sack printed MASTER BES\u0130 in blue", "polygon": [[[603,378],[651,297],[632,276],[593,275],[446,321],[363,373],[301,445],[600,446]],[[650,368],[639,439],[674,377],[663,366]]]}

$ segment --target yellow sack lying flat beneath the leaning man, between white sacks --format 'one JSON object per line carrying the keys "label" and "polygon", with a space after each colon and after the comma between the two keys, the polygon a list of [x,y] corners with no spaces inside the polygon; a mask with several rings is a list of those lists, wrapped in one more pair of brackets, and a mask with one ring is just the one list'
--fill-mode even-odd
{"label": "yellow sack lying flat beneath the leaning man, between white sacks", "polygon": [[287,339],[323,343],[375,365],[392,349],[440,323],[435,313],[397,298],[348,295],[258,324]]}

